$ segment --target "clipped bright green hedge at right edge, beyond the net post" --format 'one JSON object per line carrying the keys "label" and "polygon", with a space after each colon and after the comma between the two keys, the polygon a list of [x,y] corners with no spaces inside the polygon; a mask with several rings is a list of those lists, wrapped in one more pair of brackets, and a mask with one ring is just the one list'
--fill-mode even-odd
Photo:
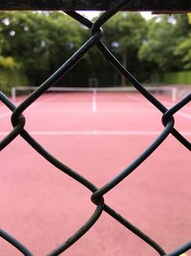
{"label": "clipped bright green hedge at right edge, beyond the net post", "polygon": [[191,84],[191,71],[170,72],[163,76],[167,84]]}

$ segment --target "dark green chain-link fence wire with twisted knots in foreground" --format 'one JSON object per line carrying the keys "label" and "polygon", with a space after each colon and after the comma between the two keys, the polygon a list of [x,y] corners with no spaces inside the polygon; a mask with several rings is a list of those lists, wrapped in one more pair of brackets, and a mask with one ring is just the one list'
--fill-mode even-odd
{"label": "dark green chain-link fence wire with twisted knots in foreground", "polygon": [[[145,233],[140,231],[137,226],[126,220],[124,217],[119,215],[113,208],[107,205],[104,202],[104,195],[109,193],[114,187],[117,186],[119,182],[121,182],[124,178],[127,178],[132,172],[134,172],[138,166],[144,162],[144,160],[149,157],[159,145],[167,138],[169,134],[172,134],[188,151],[191,151],[190,142],[184,138],[180,132],[175,128],[175,118],[174,114],[176,114],[184,105],[187,105],[191,101],[191,93],[185,96],[179,103],[174,105],[171,108],[167,108],[165,105],[162,105],[151,93],[149,93],[129,72],[126,68],[113,56],[113,54],[107,49],[107,47],[101,41],[101,37],[103,35],[101,26],[107,22],[112,16],[114,16],[117,12],[122,10],[127,4],[126,0],[118,1],[115,6],[112,6],[108,11],[103,12],[101,16],[99,16],[95,23],[88,20],[84,16],[80,15],[77,12],[66,12],[68,15],[73,17],[75,20],[86,26],[91,30],[92,35],[90,38],[74,53],[74,55],[69,58],[53,75],[47,80],[44,81],[24,102],[22,102],[17,107],[11,103],[11,100],[7,98],[2,92],[0,92],[0,100],[11,109],[11,124],[12,130],[11,132],[1,141],[0,149],[4,150],[11,142],[20,135],[26,142],[28,142],[31,147],[41,154],[47,161],[49,161],[56,169],[61,170],[65,175],[69,175],[74,178],[75,181],[81,183],[88,190],[90,190],[92,194],[92,202],[96,204],[96,210],[91,216],[91,218],[86,221],[83,226],[77,230],[74,235],[72,235],[67,241],[63,244],[60,244],[56,247],[52,252],[50,252],[49,256],[60,255],[64,252],[68,247],[73,245],[77,240],[79,240],[88,230],[96,224],[96,221],[99,219],[103,212],[107,213],[113,219],[121,223],[128,230],[133,232],[139,239],[149,244],[156,250],[159,255],[167,255],[167,256],[178,256],[191,248],[191,241],[181,245],[179,248],[175,249],[173,252],[167,253],[164,249],[157,244],[153,239],[148,237]],[[123,76],[127,81],[129,81],[138,92],[144,96],[148,102],[150,102],[154,107],[158,108],[161,112],[161,122],[163,124],[163,130],[161,130],[159,137],[153,141],[153,143],[140,155],[138,155],[137,159],[133,161],[125,170],[123,170],[119,175],[110,180],[106,185],[101,188],[97,188],[93,183],[91,183],[86,177],[77,174],[71,168],[64,165],[58,159],[56,159],[51,153],[46,151],[36,140],[32,138],[30,133],[25,129],[26,120],[24,115],[22,114],[28,107],[30,107],[44,92],[46,92],[56,81],[58,81],[61,77],[65,76],[79,61],[80,58],[92,48],[97,47],[100,54],[103,58],[108,61],[109,64],[113,65],[116,71]],[[23,244],[18,242],[15,238],[11,237],[4,230],[0,230],[0,237],[10,244],[12,244],[15,248],[17,248],[23,255],[32,256],[32,252],[28,248],[26,248]],[[128,253],[128,252],[127,252]]]}

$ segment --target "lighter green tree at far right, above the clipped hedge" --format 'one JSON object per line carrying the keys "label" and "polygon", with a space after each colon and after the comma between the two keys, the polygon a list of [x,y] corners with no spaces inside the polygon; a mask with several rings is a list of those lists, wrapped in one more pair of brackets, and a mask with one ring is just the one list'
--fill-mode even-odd
{"label": "lighter green tree at far right, above the clipped hedge", "polygon": [[185,39],[190,32],[187,16],[160,15],[149,21],[148,27],[147,39],[138,52],[139,59],[152,62],[161,72],[181,70],[180,51],[183,61],[188,58],[184,56],[189,47]]}

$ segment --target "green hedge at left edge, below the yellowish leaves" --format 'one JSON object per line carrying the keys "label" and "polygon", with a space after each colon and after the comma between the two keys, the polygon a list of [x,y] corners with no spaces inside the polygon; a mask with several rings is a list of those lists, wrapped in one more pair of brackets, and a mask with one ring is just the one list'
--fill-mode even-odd
{"label": "green hedge at left edge, below the yellowish leaves", "polygon": [[28,84],[29,81],[22,71],[0,69],[0,90],[6,95],[11,94],[12,86]]}

